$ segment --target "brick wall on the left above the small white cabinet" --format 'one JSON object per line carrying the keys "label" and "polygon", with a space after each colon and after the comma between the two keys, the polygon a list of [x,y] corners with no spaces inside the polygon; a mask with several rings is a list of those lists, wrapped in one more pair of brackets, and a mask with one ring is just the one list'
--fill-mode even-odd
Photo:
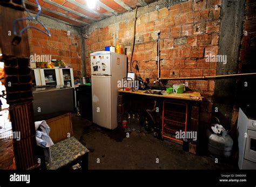
{"label": "brick wall on the left above the small white cabinet", "polygon": [[[41,25],[28,22],[28,25],[36,26],[42,30]],[[75,77],[82,75],[81,44],[78,34],[67,30],[48,27],[51,37],[35,29],[28,30],[31,54],[49,54],[52,59],[63,60],[73,68]]]}

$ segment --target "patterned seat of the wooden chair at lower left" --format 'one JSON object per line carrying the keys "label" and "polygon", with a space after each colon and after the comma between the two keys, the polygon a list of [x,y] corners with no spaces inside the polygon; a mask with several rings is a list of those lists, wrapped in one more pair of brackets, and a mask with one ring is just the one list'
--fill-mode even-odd
{"label": "patterned seat of the wooden chair at lower left", "polygon": [[47,165],[47,169],[62,168],[87,152],[89,150],[75,137],[66,138],[51,147],[52,163]]}

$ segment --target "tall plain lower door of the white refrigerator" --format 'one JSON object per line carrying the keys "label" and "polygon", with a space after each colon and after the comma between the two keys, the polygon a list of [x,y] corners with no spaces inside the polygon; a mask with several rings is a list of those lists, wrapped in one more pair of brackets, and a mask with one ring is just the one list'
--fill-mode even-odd
{"label": "tall plain lower door of the white refrigerator", "polygon": [[92,122],[107,129],[112,127],[111,76],[92,75]]}

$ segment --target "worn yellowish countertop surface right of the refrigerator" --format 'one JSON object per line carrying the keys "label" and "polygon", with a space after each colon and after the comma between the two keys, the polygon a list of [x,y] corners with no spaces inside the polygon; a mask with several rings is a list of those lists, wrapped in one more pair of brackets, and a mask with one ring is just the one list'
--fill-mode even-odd
{"label": "worn yellowish countertop surface right of the refrigerator", "polygon": [[[119,93],[130,93],[130,94],[139,94],[139,95],[147,95],[147,96],[154,96],[154,97],[160,97],[160,98],[168,98],[168,99],[182,99],[182,100],[190,100],[190,101],[202,101],[202,96],[200,92],[184,92],[181,94],[178,93],[166,93],[165,95],[158,95],[158,94],[150,94],[150,93],[144,93],[143,90],[134,90],[132,91],[123,91],[122,89],[118,90]],[[191,98],[190,96],[197,97],[197,98]]]}

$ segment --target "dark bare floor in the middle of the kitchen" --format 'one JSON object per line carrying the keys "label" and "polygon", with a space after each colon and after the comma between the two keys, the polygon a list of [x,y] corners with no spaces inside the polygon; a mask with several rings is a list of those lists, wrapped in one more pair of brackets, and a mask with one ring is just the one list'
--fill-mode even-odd
{"label": "dark bare floor in the middle of the kitchen", "polygon": [[158,140],[152,133],[133,131],[126,137],[118,129],[100,128],[76,114],[72,124],[74,136],[91,151],[89,169],[237,169],[235,163],[216,164],[210,156],[186,153],[179,144]]}

